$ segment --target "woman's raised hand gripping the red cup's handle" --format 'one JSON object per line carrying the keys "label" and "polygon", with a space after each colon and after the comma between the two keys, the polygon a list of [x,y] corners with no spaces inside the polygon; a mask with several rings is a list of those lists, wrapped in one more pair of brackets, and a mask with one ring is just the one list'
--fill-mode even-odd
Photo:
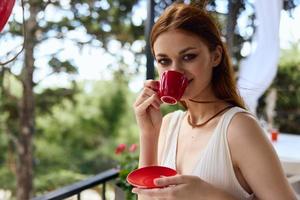
{"label": "woman's raised hand gripping the red cup's handle", "polygon": [[162,102],[159,99],[158,90],[158,81],[147,80],[144,89],[134,103],[137,124],[142,133],[159,133],[162,123],[160,112]]}

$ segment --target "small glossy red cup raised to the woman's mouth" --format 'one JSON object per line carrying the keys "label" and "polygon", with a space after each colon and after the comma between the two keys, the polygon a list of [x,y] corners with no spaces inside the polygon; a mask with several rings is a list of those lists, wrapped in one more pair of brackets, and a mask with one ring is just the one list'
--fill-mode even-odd
{"label": "small glossy red cup raised to the woman's mouth", "polygon": [[188,79],[184,74],[177,71],[165,71],[159,84],[160,100],[166,104],[176,104],[187,86]]}

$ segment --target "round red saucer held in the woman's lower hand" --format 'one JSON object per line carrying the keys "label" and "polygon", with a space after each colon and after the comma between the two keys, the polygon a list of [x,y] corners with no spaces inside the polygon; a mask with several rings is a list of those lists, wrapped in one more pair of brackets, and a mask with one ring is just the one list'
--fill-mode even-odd
{"label": "round red saucer held in the woman's lower hand", "polygon": [[153,180],[163,176],[174,176],[174,169],[163,166],[148,166],[136,169],[127,176],[127,182],[138,188],[157,188]]}

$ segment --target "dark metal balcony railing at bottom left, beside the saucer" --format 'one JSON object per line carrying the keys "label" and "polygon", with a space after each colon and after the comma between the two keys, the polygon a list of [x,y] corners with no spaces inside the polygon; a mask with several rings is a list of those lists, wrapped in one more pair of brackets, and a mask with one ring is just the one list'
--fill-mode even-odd
{"label": "dark metal balcony railing at bottom left, beside the saucer", "polygon": [[110,169],[100,174],[97,174],[96,176],[76,182],[72,185],[68,185],[58,190],[49,192],[45,195],[35,197],[32,200],[60,200],[74,195],[76,195],[77,199],[80,200],[80,193],[83,190],[92,188],[100,184],[102,185],[102,199],[105,200],[106,182],[117,178],[118,175],[119,175],[119,171],[117,169]]}

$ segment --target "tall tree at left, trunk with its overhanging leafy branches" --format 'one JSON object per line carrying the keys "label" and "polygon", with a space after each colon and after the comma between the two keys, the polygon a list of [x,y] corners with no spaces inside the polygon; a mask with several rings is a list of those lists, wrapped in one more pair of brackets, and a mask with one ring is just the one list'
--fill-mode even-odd
{"label": "tall tree at left, trunk with its overhanging leafy branches", "polygon": [[[28,0],[24,1],[25,12],[29,14],[25,18],[25,44],[21,73],[14,73],[13,64],[1,67],[1,110],[7,113],[1,132],[8,134],[13,142],[16,159],[17,199],[26,200],[32,196],[33,185],[33,137],[35,135],[35,117],[37,111],[49,110],[49,107],[58,101],[49,102],[60,95],[60,99],[70,96],[75,92],[74,87],[61,89],[47,89],[36,93],[39,85],[34,82],[36,71],[35,61],[38,59],[38,46],[46,43],[51,38],[60,40],[68,39],[68,33],[83,27],[88,35],[86,41],[80,38],[74,41],[76,45],[97,44],[107,48],[111,39],[119,40],[123,45],[133,42],[143,34],[142,25],[135,26],[131,21],[132,9],[137,1],[71,1],[69,3],[59,0]],[[56,12],[65,12],[66,15],[57,21],[47,18],[46,11],[53,9]],[[53,13],[50,13],[53,14]],[[22,38],[22,22],[16,17],[10,23],[8,32],[3,38]],[[65,72],[76,73],[76,67],[70,61],[60,59],[59,52],[48,56],[48,66],[51,73]],[[21,85],[21,93],[16,96],[7,86],[7,77],[14,76]],[[37,101],[39,99],[39,101]],[[56,99],[57,100],[57,99]],[[37,106],[43,106],[37,108]],[[12,126],[10,126],[12,125]]]}

